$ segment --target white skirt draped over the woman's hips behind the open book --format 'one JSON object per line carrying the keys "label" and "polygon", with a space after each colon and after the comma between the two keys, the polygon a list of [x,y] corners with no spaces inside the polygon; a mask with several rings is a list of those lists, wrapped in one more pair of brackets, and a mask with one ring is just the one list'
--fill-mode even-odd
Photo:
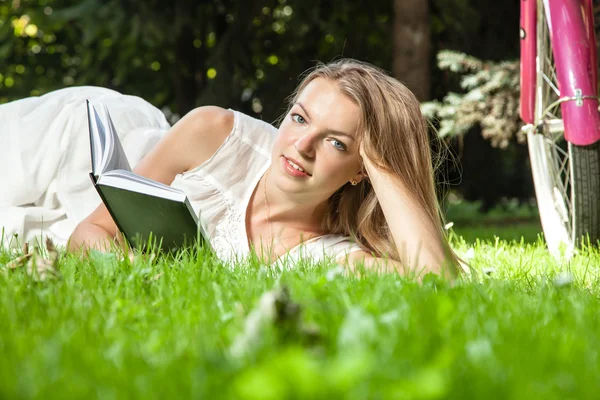
{"label": "white skirt draped over the woman's hips behind the open book", "polygon": [[64,245],[77,223],[100,203],[89,178],[85,99],[107,105],[132,167],[170,128],[163,113],[143,99],[98,87],[62,89],[0,105],[3,246],[46,236]]}

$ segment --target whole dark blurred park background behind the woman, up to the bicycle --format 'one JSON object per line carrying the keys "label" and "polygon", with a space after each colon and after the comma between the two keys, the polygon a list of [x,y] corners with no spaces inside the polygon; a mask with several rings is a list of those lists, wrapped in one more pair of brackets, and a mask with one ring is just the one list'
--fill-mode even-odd
{"label": "whole dark blurred park background behind the woman, up to the bicycle", "polygon": [[440,180],[455,227],[535,240],[518,55],[514,0],[0,0],[0,103],[96,85],[172,123],[206,104],[272,122],[317,60],[378,65],[450,145]]}

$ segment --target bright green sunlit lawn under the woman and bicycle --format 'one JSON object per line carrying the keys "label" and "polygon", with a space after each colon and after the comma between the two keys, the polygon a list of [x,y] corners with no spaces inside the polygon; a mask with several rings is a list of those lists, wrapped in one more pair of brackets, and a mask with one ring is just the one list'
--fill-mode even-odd
{"label": "bright green sunlit lawn under the woman and bicycle", "polygon": [[[0,398],[597,398],[600,253],[557,261],[500,239],[514,228],[495,234],[453,236],[477,272],[453,285],[209,254],[62,255],[45,282],[0,273]],[[279,318],[234,356],[282,285],[316,338]]]}

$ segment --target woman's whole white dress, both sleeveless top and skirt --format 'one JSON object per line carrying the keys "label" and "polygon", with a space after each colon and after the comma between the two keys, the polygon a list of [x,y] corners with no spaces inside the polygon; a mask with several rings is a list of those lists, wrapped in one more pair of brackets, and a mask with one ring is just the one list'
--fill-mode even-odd
{"label": "woman's whole white dress, both sleeveless top and skirt", "polygon": [[[130,165],[135,166],[170,128],[145,100],[98,87],[74,87],[0,105],[0,247],[50,237],[65,245],[77,224],[100,204],[91,171],[85,99],[107,105]],[[245,214],[270,165],[272,125],[235,113],[232,132],[211,159],[177,175],[202,229],[224,261],[250,253]],[[14,237],[17,235],[18,239]],[[322,260],[360,250],[349,238],[325,235],[279,261]]]}

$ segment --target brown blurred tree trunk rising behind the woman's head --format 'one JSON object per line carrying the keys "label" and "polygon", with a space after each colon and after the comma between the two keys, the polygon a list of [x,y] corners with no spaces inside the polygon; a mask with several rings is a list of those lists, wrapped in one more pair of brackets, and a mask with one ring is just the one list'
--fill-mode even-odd
{"label": "brown blurred tree trunk rising behind the woman's head", "polygon": [[420,101],[429,99],[428,0],[394,0],[393,72]]}

